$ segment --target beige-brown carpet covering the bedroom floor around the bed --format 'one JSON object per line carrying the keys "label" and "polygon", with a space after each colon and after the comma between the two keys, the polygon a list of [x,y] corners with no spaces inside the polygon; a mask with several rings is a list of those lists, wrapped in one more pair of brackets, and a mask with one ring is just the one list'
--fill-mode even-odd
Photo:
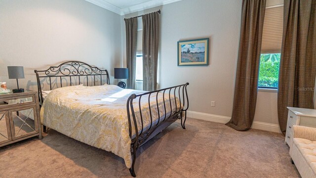
{"label": "beige-brown carpet covering the bedroom floor around the bed", "polygon": [[[284,136],[188,119],[138,151],[137,178],[297,178]],[[49,130],[0,148],[1,178],[129,178],[118,156]]]}

